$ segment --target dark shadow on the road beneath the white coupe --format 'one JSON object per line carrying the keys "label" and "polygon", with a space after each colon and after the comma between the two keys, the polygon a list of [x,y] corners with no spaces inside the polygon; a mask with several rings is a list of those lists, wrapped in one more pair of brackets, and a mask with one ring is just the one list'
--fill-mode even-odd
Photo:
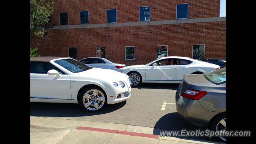
{"label": "dark shadow on the road beneath the white coupe", "polygon": [[140,85],[132,88],[135,89],[172,89],[176,90],[179,87],[179,83],[141,83]]}

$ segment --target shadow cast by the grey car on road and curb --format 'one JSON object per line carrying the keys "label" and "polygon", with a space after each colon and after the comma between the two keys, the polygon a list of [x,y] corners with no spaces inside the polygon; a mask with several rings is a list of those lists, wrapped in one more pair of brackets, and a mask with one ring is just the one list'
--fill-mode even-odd
{"label": "shadow cast by the grey car on road and curb", "polygon": [[[185,119],[180,118],[179,114],[177,112],[172,112],[169,114],[166,114],[162,116],[155,124],[153,134],[161,135],[160,132],[164,131],[174,131],[174,130],[197,130],[201,129],[204,130],[198,126],[194,126],[193,124],[190,124]],[[186,133],[185,133],[186,134]],[[208,138],[208,137],[188,137],[188,136],[172,136],[176,138],[182,138],[186,140],[196,140],[196,141],[211,141],[218,143],[214,138]]]}

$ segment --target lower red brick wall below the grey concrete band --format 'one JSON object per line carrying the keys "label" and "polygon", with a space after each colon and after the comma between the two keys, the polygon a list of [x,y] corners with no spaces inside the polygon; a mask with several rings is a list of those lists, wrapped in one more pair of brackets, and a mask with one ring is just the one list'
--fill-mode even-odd
{"label": "lower red brick wall below the grey concrete band", "polygon": [[[157,45],[168,45],[168,56],[192,57],[192,45],[205,45],[205,58],[226,59],[226,22],[48,30],[40,43],[41,56],[68,57],[68,47],[77,47],[78,59],[96,57],[104,46],[105,57],[126,65],[156,59]],[[125,46],[135,46],[135,61],[125,60]]]}

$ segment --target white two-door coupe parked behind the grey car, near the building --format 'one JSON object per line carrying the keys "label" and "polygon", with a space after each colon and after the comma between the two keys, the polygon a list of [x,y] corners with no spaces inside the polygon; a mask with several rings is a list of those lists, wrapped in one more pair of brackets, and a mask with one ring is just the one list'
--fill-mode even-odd
{"label": "white two-door coupe parked behind the grey car, near the building", "polygon": [[189,57],[162,57],[145,65],[124,67],[120,72],[129,75],[132,86],[137,86],[140,83],[180,83],[184,75],[216,69],[220,66]]}

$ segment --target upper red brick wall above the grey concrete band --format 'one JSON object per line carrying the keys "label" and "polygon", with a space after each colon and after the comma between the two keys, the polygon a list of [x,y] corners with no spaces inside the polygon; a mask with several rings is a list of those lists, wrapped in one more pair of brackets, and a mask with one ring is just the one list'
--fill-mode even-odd
{"label": "upper red brick wall above the grey concrete band", "polygon": [[80,11],[89,11],[90,24],[105,24],[106,10],[117,9],[117,22],[139,22],[140,6],[150,6],[150,21],[175,20],[176,4],[188,3],[188,18],[220,15],[220,0],[48,0],[54,2],[52,24],[60,24],[59,13],[68,12],[68,24],[80,24]]}

